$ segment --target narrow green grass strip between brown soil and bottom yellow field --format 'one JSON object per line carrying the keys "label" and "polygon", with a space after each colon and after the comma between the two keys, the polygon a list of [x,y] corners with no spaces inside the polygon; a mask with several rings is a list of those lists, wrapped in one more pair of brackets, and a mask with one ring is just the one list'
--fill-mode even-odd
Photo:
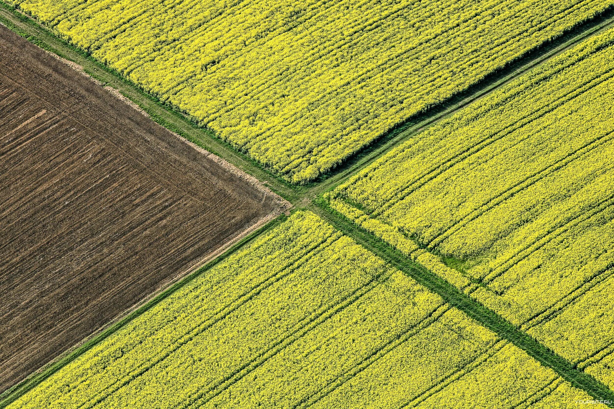
{"label": "narrow green grass strip between brown soil and bottom yellow field", "polygon": [[6,391],[2,392],[2,394],[0,394],[0,409],[6,408],[8,405],[10,405],[10,403],[13,403],[15,400],[19,399],[21,396],[26,394],[26,392],[30,391],[33,388],[36,388],[38,384],[40,384],[42,381],[52,376],[55,372],[57,372],[62,367],[64,367],[64,365],[67,365],[70,362],[77,359],[77,357],[85,353],[85,351],[89,350],[96,344],[102,342],[104,339],[112,335],[115,331],[118,331],[120,328],[125,326],[125,324],[129,323],[132,319],[147,312],[147,310],[152,308],[154,305],[158,304],[158,302],[160,302],[161,300],[168,297],[174,291],[177,291],[178,289],[182,288],[182,286],[186,285],[190,281],[194,280],[194,278],[198,277],[199,275],[203,274],[207,270],[216,266],[216,264],[219,264],[219,262],[226,259],[228,256],[230,256],[235,251],[244,247],[244,245],[246,245],[247,243],[251,242],[252,240],[254,240],[255,238],[257,238],[258,236],[262,234],[266,234],[266,232],[270,231],[271,229],[274,229],[275,227],[279,226],[279,224],[283,223],[286,220],[287,220],[287,216],[282,214],[278,216],[277,218],[271,220],[269,223],[266,223],[264,226],[260,227],[260,229],[257,229],[256,231],[247,235],[243,239],[239,240],[234,245],[232,245],[230,248],[228,248],[228,250],[224,251],[222,254],[212,259],[211,261],[206,263],[204,266],[196,269],[194,272],[174,282],[164,291],[158,293],[152,299],[148,300],[145,304],[141,305],[141,307],[138,307],[133,312],[128,313],[128,315],[124,316],[122,319],[120,319],[120,321],[117,321],[116,323],[111,324],[110,326],[106,327],[104,331],[99,332],[99,334],[95,335],[94,337],[90,338],[86,342],[82,343],[74,350],[71,350],[71,351],[68,351],[68,353],[62,354],[60,357],[56,358],[55,360],[49,362],[49,364],[42,367],[42,369],[39,370],[38,372],[32,373],[25,380],[21,381],[18,384],[15,384],[15,386],[13,386],[12,388],[9,388]]}

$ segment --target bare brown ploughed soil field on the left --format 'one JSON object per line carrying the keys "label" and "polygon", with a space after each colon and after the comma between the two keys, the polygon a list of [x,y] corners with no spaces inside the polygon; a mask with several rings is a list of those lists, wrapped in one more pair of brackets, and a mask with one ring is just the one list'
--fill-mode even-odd
{"label": "bare brown ploughed soil field on the left", "polygon": [[0,391],[287,202],[0,26]]}

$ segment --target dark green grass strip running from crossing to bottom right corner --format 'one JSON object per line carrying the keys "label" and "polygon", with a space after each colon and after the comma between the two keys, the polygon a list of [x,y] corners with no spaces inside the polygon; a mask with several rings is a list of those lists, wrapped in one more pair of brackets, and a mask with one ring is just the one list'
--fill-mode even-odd
{"label": "dark green grass strip running from crossing to bottom right corner", "polygon": [[[575,388],[582,389],[595,400],[614,401],[614,392],[605,384],[596,380],[588,373],[577,369],[569,361],[554,353],[550,348],[546,348],[535,338],[520,331],[502,316],[484,307],[484,305],[473,300],[464,292],[459,291],[448,281],[443,280],[443,278],[426,269],[426,267],[414,262],[391,245],[378,239],[375,235],[370,234],[362,227],[336,212],[328,205],[324,197],[317,197],[309,207],[309,210],[332,224],[333,227],[343,232],[343,234],[351,237],[367,250],[389,262],[391,266],[401,270],[422,286],[438,294],[449,305],[458,308],[484,327],[499,335],[499,337],[526,351],[530,357],[540,362],[543,366],[554,370],[554,372],[558,373],[564,380],[569,381]],[[608,406],[614,407],[614,404],[608,404]]]}

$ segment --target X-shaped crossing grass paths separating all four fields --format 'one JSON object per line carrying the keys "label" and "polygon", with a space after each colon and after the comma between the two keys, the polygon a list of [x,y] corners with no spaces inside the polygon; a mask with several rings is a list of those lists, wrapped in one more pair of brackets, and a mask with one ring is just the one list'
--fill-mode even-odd
{"label": "X-shaped crossing grass paths separating all four fields", "polygon": [[[494,331],[503,339],[510,341],[526,351],[529,356],[533,357],[544,366],[553,369],[556,373],[561,375],[562,378],[570,381],[576,388],[583,389],[597,400],[614,400],[614,392],[607,386],[597,381],[591,375],[573,367],[569,361],[553,353],[553,351],[538,343],[534,338],[520,331],[501,316],[489,310],[489,308],[471,299],[456,287],[440,278],[437,274],[411,261],[411,259],[400,253],[400,251],[384,243],[383,240],[371,235],[343,215],[336,213],[328,206],[325,199],[322,198],[322,193],[330,191],[337,185],[340,185],[360,169],[363,169],[363,167],[375,161],[379,156],[384,155],[398,143],[414,136],[441,119],[453,115],[453,113],[464,108],[466,105],[486,96],[500,86],[523,75],[559,53],[564,52],[567,48],[573,47],[578,44],[578,42],[585,40],[587,37],[596,35],[610,28],[610,26],[614,25],[614,9],[610,9],[600,17],[578,26],[573,31],[558,37],[558,39],[536,50],[532,50],[532,52],[527,53],[527,55],[518,59],[515,63],[484,78],[484,80],[472,86],[469,90],[401,124],[389,132],[389,134],[376,140],[370,146],[364,148],[351,158],[346,159],[346,161],[336,167],[336,169],[322,175],[315,182],[302,186],[291,185],[272,172],[264,169],[254,159],[249,158],[244,153],[235,150],[230,144],[217,138],[214,132],[196,126],[189,117],[184,115],[184,113],[177,112],[173,107],[161,104],[157,98],[145,93],[138,86],[134,85],[134,83],[123,78],[119,73],[109,69],[109,67],[99,63],[87,53],[78,50],[64,40],[56,37],[49,29],[39,25],[35,20],[23,15],[2,0],[0,0],[0,23],[20,36],[26,37],[26,39],[39,47],[79,64],[79,66],[83,67],[85,73],[99,80],[104,85],[109,85],[119,90],[123,96],[128,97],[128,99],[139,105],[141,109],[150,115],[152,120],[156,121],[161,126],[176,132],[182,137],[185,137],[185,139],[196,143],[196,145],[201,148],[220,156],[220,158],[225,159],[247,174],[258,178],[258,180],[268,185],[275,193],[278,193],[280,196],[284,197],[284,199],[292,203],[295,210],[298,208],[308,208],[321,216],[325,221],[354,239],[363,247],[377,254],[397,269],[402,270],[430,291],[440,295],[450,305],[467,313],[468,316],[488,329],[491,329],[491,331]],[[104,340],[104,338],[120,329],[120,327],[128,323],[131,319],[146,312],[149,308],[153,307],[153,305],[160,302],[160,300],[176,291],[176,289],[181,288],[181,286],[191,281],[197,275],[215,266],[228,255],[243,247],[243,245],[250,242],[258,235],[264,234],[266,231],[277,226],[285,219],[286,216],[282,215],[276,218],[276,220],[266,224],[266,226],[261,227],[233,245],[218,258],[208,262],[208,264],[200,267],[200,269],[197,269],[195,272],[182,278],[182,280],[169,286],[169,288],[147,300],[144,304],[119,321],[110,324],[104,331],[93,335],[93,337],[88,338],[84,343],[76,346],[72,350],[66,351],[64,354],[61,354],[61,356],[30,375],[24,381],[21,381],[21,383],[2,392],[2,394],[0,394],[0,409],[5,408],[15,399],[18,399],[18,397],[41,383],[41,381],[53,375],[58,369]],[[614,405],[610,405],[610,407],[614,407]]]}

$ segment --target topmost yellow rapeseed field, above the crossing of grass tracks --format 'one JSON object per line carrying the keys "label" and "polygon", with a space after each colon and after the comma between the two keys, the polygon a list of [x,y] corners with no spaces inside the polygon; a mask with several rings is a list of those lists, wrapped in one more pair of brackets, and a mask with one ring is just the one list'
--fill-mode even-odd
{"label": "topmost yellow rapeseed field, above the crossing of grass tracks", "polygon": [[302,183],[613,2],[14,4]]}

